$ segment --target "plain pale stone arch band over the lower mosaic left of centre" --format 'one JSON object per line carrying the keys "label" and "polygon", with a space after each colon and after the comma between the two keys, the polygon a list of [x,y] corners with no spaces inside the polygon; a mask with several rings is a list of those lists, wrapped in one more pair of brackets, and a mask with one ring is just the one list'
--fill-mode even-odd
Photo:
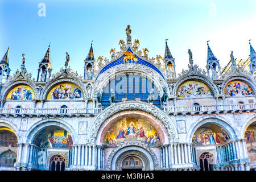
{"label": "plain pale stone arch band over the lower mosaic left of centre", "polygon": [[36,134],[47,126],[59,126],[62,127],[64,130],[68,131],[68,133],[71,135],[71,138],[73,140],[73,143],[79,143],[79,138],[77,136],[76,130],[69,125],[69,123],[60,120],[60,119],[43,119],[39,122],[36,122],[34,125],[30,127],[30,129],[27,131],[24,142],[26,143],[32,143],[33,139],[35,138]]}

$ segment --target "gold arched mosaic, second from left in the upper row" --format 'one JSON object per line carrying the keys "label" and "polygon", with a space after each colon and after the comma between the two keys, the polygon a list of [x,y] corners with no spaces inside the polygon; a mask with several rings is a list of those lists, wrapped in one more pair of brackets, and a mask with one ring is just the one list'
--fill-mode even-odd
{"label": "gold arched mosaic, second from left in the upper row", "polygon": [[82,98],[82,89],[71,82],[61,82],[53,86],[47,95],[47,100],[79,100]]}

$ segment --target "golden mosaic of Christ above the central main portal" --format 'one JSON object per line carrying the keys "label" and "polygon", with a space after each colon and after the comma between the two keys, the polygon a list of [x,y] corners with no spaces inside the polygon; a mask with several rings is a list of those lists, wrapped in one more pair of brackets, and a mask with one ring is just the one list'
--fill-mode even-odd
{"label": "golden mosaic of Christ above the central main portal", "polygon": [[125,141],[141,141],[154,146],[160,143],[160,137],[158,131],[144,119],[123,118],[109,127],[104,142],[115,145]]}

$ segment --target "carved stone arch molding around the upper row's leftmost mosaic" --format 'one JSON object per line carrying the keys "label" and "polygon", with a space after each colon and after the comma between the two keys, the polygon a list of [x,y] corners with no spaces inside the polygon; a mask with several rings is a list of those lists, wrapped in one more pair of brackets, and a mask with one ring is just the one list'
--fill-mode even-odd
{"label": "carved stone arch molding around the upper row's leftmost mosaic", "polygon": [[7,94],[11,91],[11,89],[13,89],[15,86],[22,85],[22,84],[30,86],[35,93],[35,99],[38,97],[36,94],[36,86],[34,85],[34,83],[32,83],[30,81],[26,81],[26,80],[19,80],[19,81],[11,82],[9,85],[7,85],[6,88],[3,89],[3,91],[2,91],[3,94],[1,96],[1,98],[3,100],[5,100]]}

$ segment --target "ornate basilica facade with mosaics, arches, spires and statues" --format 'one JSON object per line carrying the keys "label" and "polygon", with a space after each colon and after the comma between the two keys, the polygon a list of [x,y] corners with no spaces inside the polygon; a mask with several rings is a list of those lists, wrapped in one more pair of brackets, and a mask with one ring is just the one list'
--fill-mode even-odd
{"label": "ornate basilica facade with mosaics, arches, spires and statues", "polygon": [[221,69],[207,42],[206,70],[188,49],[176,73],[167,40],[164,56],[150,57],[127,26],[109,59],[94,58],[91,44],[83,75],[69,67],[68,52],[53,73],[49,46],[35,78],[24,54],[11,76],[8,48],[0,62],[0,170],[254,170],[249,46],[249,59],[231,52]]}

